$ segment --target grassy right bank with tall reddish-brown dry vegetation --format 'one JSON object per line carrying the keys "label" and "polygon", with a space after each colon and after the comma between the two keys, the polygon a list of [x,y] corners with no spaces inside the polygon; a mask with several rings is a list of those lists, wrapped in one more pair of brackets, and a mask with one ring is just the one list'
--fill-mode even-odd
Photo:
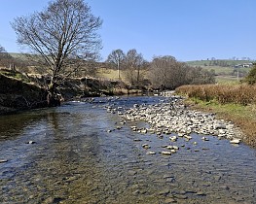
{"label": "grassy right bank with tall reddish-brown dry vegetation", "polygon": [[184,85],[176,93],[188,96],[195,109],[233,121],[246,135],[243,142],[256,147],[256,86]]}

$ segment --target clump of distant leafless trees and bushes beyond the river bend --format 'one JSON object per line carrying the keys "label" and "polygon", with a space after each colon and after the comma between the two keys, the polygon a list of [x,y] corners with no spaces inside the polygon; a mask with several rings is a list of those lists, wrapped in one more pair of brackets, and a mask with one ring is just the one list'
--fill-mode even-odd
{"label": "clump of distant leafless trees and bushes beyond the river bend", "polygon": [[[146,61],[141,53],[132,49],[112,51],[106,60],[109,67],[125,71],[130,85],[152,85],[154,88],[173,89],[179,85],[215,83],[215,72],[192,67],[179,62],[173,56],[155,56]],[[120,75],[119,75],[120,77]]]}

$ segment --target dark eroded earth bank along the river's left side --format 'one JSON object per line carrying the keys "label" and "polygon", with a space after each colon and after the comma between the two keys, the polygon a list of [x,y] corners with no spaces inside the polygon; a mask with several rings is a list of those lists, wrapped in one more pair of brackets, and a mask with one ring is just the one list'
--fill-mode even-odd
{"label": "dark eroded earth bank along the river's left side", "polygon": [[[47,91],[38,85],[44,80],[46,79],[42,77],[28,77],[18,72],[0,72],[0,115],[47,107]],[[95,78],[68,79],[58,85],[57,90],[62,101],[141,92],[140,89],[130,87],[123,82]]]}

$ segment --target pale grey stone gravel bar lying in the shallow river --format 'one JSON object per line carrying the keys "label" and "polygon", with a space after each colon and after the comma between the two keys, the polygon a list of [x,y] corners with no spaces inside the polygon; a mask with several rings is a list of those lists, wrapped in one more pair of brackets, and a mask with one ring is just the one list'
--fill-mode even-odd
{"label": "pale grey stone gravel bar lying in the shallow river", "polygon": [[[149,124],[148,128],[139,128],[136,125],[132,125],[130,128],[134,132],[156,134],[160,138],[169,135],[170,142],[176,142],[179,137],[190,141],[192,133],[197,133],[203,141],[208,141],[208,136],[216,136],[219,139],[229,139],[232,144],[239,144],[243,134],[231,121],[216,119],[214,114],[190,110],[183,104],[184,98],[171,94],[155,105],[134,104],[132,108],[123,112],[122,107],[115,109],[110,106],[107,107],[107,111],[112,113],[118,111],[125,121],[145,121]],[[170,136],[172,133],[175,135]],[[148,150],[151,147],[148,144],[143,144],[142,148]],[[165,149],[166,151],[162,154],[168,155],[176,153],[179,148],[166,146]],[[148,152],[148,154],[155,154],[155,152]]]}

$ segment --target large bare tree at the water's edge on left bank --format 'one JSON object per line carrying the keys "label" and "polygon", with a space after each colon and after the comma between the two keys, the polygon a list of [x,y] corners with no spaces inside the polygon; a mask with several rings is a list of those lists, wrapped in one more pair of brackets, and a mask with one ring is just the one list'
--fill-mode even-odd
{"label": "large bare tree at the water's edge on left bank", "polygon": [[85,60],[95,59],[101,49],[96,33],[102,20],[91,14],[83,0],[55,0],[42,12],[17,17],[12,23],[18,44],[33,53],[51,76],[47,85],[49,106],[59,105],[56,86],[80,69]]}

